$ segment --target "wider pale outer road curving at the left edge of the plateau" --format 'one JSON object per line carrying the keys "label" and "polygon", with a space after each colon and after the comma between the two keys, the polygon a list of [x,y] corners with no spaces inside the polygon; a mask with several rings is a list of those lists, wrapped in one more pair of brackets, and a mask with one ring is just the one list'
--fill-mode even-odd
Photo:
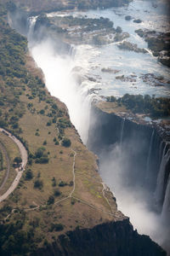
{"label": "wider pale outer road curving at the left edge of the plateau", "polygon": [[8,195],[10,195],[14,191],[14,189],[16,189],[18,183],[20,182],[20,177],[22,177],[22,174],[26,168],[28,154],[27,154],[26,148],[24,147],[24,145],[22,143],[20,143],[19,139],[14,137],[10,132],[5,131],[3,128],[0,128],[0,132],[4,132],[9,138],[11,138],[14,141],[14,143],[17,144],[17,146],[20,150],[20,155],[21,155],[22,165],[23,165],[23,170],[17,172],[17,175],[14,178],[14,182],[11,184],[11,186],[8,188],[8,190],[3,195],[0,195],[0,202],[2,202],[3,200],[7,199]]}

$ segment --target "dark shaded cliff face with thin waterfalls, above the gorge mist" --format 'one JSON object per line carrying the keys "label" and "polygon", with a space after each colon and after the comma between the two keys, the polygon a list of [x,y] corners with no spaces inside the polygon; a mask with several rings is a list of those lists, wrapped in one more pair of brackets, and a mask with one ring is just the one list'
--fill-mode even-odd
{"label": "dark shaded cliff face with thin waterfalls, above the gorge mist", "polygon": [[[126,155],[123,168],[129,187],[139,185],[149,191],[151,207],[169,222],[170,145],[156,127],[141,125],[116,113],[92,108],[88,147],[100,159],[118,145]],[[123,159],[123,158],[122,158]]]}

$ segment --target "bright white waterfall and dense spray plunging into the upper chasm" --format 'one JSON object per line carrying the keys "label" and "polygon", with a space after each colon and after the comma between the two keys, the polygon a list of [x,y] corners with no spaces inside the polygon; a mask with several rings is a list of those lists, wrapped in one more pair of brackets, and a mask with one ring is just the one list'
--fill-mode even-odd
{"label": "bright white waterfall and dense spray plunging into the upper chasm", "polygon": [[[34,40],[35,22],[36,18],[30,19],[28,41],[31,55],[37,62],[37,66],[42,68],[49,92],[52,96],[56,96],[60,101],[65,102],[71,122],[76,126],[82,137],[82,142],[86,143],[90,102],[94,97],[94,93],[90,90],[94,88],[94,82],[86,78],[86,71],[83,69],[87,65],[88,55],[84,59],[85,63],[80,61],[79,55],[82,56],[84,49],[86,50],[90,46],[82,45],[77,49],[70,46],[66,54],[60,55],[59,52],[56,52],[56,42],[54,44],[51,38],[43,38],[40,41]],[[62,44],[62,42],[59,44]]]}

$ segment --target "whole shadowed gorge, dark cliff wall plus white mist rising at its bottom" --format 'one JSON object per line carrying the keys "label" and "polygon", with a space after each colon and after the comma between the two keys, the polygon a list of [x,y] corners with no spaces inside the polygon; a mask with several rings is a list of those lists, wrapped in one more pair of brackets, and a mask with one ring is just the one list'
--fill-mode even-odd
{"label": "whole shadowed gorge, dark cliff wall plus white mist rising at its bottom", "polygon": [[96,105],[88,147],[99,155],[101,177],[139,232],[168,247],[170,155],[166,137],[156,126],[111,113],[111,106],[107,111],[102,102]]}

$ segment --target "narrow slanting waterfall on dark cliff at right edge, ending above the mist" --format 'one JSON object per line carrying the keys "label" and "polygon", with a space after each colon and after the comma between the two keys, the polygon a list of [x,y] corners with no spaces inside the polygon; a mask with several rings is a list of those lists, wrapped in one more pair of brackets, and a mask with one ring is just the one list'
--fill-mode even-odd
{"label": "narrow slanting waterfall on dark cliff at right edge, ending above the mist", "polygon": [[162,203],[165,201],[165,197],[164,197],[165,174],[166,174],[167,162],[170,158],[170,149],[167,149],[167,145],[168,143],[165,143],[165,146],[163,148],[163,153],[161,157],[161,166],[157,176],[155,199],[156,199],[156,205],[158,208],[161,207]]}

